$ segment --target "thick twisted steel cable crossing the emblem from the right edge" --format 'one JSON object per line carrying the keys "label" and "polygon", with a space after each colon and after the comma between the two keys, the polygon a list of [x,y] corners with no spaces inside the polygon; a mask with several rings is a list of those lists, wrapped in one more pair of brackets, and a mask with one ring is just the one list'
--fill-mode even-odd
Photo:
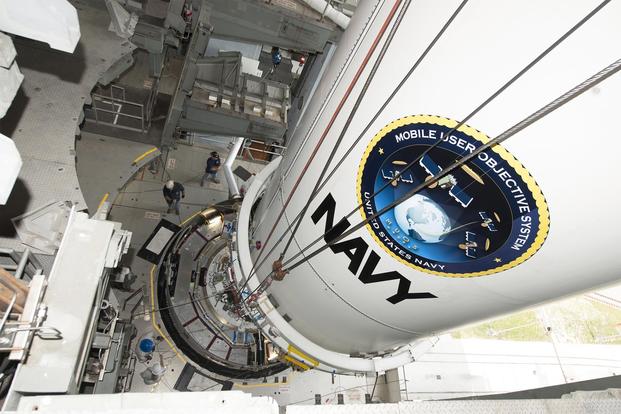
{"label": "thick twisted steel cable crossing the emblem from the right edge", "polygon": [[[517,134],[518,132],[523,130],[524,128],[528,127],[529,125],[533,124],[534,122],[538,121],[539,119],[543,118],[544,116],[548,115],[549,113],[551,113],[554,110],[558,109],[559,107],[563,106],[564,104],[566,104],[570,100],[572,100],[572,99],[576,98],[577,96],[581,95],[582,93],[584,93],[588,89],[592,88],[593,86],[599,84],[603,80],[605,80],[608,77],[612,76],[613,74],[617,73],[619,70],[621,70],[621,59],[616,60],[612,64],[608,65],[604,69],[602,69],[599,72],[597,72],[595,75],[593,75],[590,78],[586,79],[585,81],[583,81],[579,85],[575,86],[571,90],[565,92],[563,95],[559,96],[558,98],[556,98],[552,102],[548,103],[547,105],[543,106],[542,108],[540,108],[536,112],[534,112],[531,115],[529,115],[528,117],[524,118],[522,121],[520,121],[517,124],[513,125],[509,129],[507,129],[505,132],[503,132],[502,134],[498,135],[496,138],[494,138],[491,141],[489,141],[487,144],[484,144],[484,145],[478,147],[477,149],[472,151],[472,153],[470,153],[470,154],[460,158],[459,160],[457,160],[456,162],[454,162],[453,164],[451,164],[447,168],[443,169],[439,174],[435,175],[430,180],[425,181],[422,184],[419,184],[418,186],[416,186],[411,191],[407,192],[402,197],[399,197],[397,200],[392,201],[390,204],[388,204],[387,206],[385,206],[381,210],[377,211],[376,213],[372,214],[371,216],[367,217],[362,222],[356,224],[355,226],[353,226],[349,230],[343,232],[341,235],[339,235],[339,236],[335,237],[334,239],[330,240],[329,243],[326,243],[324,246],[318,248],[317,250],[315,250],[314,252],[312,252],[309,255],[305,256],[303,259],[299,260],[298,262],[292,264],[291,266],[284,268],[283,271],[288,272],[288,271],[291,271],[291,270],[295,269],[296,267],[298,267],[302,263],[304,263],[304,262],[310,260],[311,258],[313,258],[314,256],[318,255],[319,253],[321,253],[322,251],[324,251],[328,247],[334,245],[335,243],[338,243],[343,238],[345,238],[345,237],[351,235],[352,233],[354,233],[355,231],[359,230],[360,228],[365,226],[367,223],[371,222],[372,220],[375,220],[377,217],[379,217],[382,214],[386,213],[387,211],[389,211],[390,209],[392,209],[396,205],[398,205],[401,202],[403,202],[403,201],[407,200],[408,198],[412,197],[414,194],[418,193],[420,190],[422,190],[425,187],[427,187],[427,186],[437,182],[439,179],[441,179],[442,177],[444,177],[446,174],[450,173],[454,169],[461,167],[462,165],[464,165],[466,162],[468,162],[472,158],[476,157],[481,152],[487,150],[488,148],[491,148],[491,147],[493,147],[495,145],[498,145],[498,144],[506,141],[510,137],[514,136],[515,134]],[[321,238],[323,238],[323,236],[321,236]],[[315,242],[311,243],[311,245],[307,246],[304,250],[300,251],[298,254],[296,254],[291,259],[286,261],[283,265],[286,266],[287,264],[291,263],[297,257],[302,255],[304,253],[304,251],[307,250],[308,248],[310,248],[314,243]]]}

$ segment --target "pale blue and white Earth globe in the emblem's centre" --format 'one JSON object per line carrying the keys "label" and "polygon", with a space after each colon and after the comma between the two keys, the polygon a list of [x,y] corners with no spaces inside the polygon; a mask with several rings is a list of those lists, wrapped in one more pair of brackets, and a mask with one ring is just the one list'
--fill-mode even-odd
{"label": "pale blue and white Earth globe in the emblem's centre", "polygon": [[413,195],[397,205],[394,212],[401,230],[417,240],[438,243],[451,232],[448,215],[424,195]]}

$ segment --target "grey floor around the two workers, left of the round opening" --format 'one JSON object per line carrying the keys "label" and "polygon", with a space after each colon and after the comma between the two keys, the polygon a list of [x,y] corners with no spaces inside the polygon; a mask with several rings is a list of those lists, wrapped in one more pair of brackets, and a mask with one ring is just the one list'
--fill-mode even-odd
{"label": "grey floor around the two workers, left of the round opening", "polygon": [[[120,221],[134,232],[132,243],[137,245],[144,242],[160,218],[180,223],[196,210],[228,198],[222,172],[219,184],[207,181],[204,187],[200,186],[206,160],[213,150],[208,147],[180,145],[162,154],[162,163],[166,168],[160,168],[157,174],[145,169],[132,181],[122,182],[121,175],[132,160],[150,148],[150,145],[89,132],[82,133],[76,147],[78,177],[89,211],[92,213],[97,209],[105,193],[123,187],[113,202],[109,218]],[[221,149],[218,151],[222,159],[228,155]],[[238,165],[252,173],[263,168],[260,163],[238,160],[233,164],[233,169]],[[180,216],[166,214],[162,187],[169,179],[180,182],[186,189]],[[242,184],[243,181],[238,179],[238,185]]]}

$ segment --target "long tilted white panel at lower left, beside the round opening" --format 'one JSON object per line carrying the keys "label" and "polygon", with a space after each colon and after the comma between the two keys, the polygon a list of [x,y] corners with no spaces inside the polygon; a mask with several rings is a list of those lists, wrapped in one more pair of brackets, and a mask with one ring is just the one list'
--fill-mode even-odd
{"label": "long tilted white panel at lower left, beside the round opening", "polygon": [[[85,337],[92,329],[93,301],[104,274],[106,252],[114,230],[110,221],[89,220],[72,213],[43,298],[44,326],[60,331],[62,339],[35,337],[27,362],[13,383],[21,393],[67,393],[77,388]],[[39,381],[41,378],[49,381]]]}

